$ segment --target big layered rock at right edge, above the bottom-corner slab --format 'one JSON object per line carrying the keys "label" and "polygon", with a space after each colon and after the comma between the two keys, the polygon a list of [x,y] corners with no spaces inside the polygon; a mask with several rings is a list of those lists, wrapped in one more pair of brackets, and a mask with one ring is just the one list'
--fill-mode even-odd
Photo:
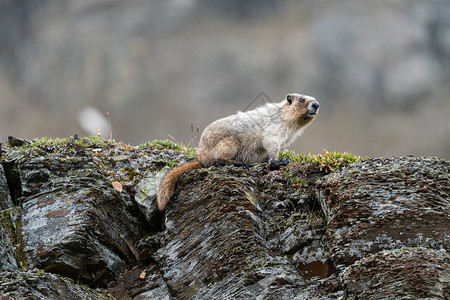
{"label": "big layered rock at right edge, above the bottom-corner slab", "polygon": [[319,199],[339,268],[402,247],[450,250],[450,164],[380,158],[326,176]]}

